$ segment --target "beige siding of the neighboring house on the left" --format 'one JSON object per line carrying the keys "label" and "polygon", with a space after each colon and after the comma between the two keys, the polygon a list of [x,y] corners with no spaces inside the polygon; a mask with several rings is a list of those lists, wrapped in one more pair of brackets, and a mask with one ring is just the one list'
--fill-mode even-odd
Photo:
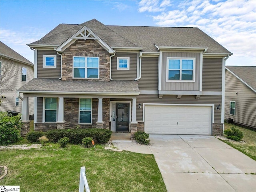
{"label": "beige siding of the neighboring house on the left", "polygon": [[[6,98],[2,99],[2,103],[0,105],[0,111],[5,112],[9,110],[14,110],[16,112],[22,112],[22,100],[19,98],[19,105],[16,106],[17,92],[16,90],[25,85],[27,82],[34,78],[34,68],[33,66],[16,62],[12,60],[7,60],[5,58],[0,59],[1,62],[1,76],[2,82],[6,84],[6,88],[0,89],[0,96],[5,96]],[[3,71],[4,68],[8,65],[7,72],[9,73],[8,76],[4,76]],[[22,81],[22,67],[27,69],[26,81]],[[12,78],[10,78],[12,77]],[[21,93],[20,96],[23,98],[23,94]],[[34,97],[28,98],[29,104],[29,115],[34,114]]]}

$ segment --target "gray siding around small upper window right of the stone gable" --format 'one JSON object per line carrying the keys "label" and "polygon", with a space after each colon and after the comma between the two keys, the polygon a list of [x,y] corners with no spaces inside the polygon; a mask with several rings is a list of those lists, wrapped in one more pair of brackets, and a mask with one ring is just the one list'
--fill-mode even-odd
{"label": "gray siding around small upper window right of the stone gable", "polygon": [[[117,70],[117,57],[130,57],[130,70]],[[111,75],[113,80],[134,80],[137,78],[137,57],[138,53],[117,52],[112,57]]]}

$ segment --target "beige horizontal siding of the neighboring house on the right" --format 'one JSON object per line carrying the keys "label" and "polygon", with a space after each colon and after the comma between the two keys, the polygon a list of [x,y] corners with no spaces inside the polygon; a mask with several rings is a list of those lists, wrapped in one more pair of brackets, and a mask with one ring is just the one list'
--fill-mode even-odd
{"label": "beige horizontal siding of the neighboring house on the right", "polygon": [[[236,94],[237,93],[237,94]],[[230,101],[235,101],[235,115],[230,115]],[[256,92],[226,70],[225,118],[256,128]]]}

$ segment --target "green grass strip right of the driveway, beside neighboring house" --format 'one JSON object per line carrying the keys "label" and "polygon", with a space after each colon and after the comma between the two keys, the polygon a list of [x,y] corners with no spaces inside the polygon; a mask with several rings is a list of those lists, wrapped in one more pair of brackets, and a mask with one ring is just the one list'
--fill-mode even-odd
{"label": "green grass strip right of the driveway, beside neighboring house", "polygon": [[232,141],[223,141],[227,143],[228,145],[232,146],[233,148],[236,148],[240,152],[246,154],[250,158],[256,160],[256,132],[242,128],[237,125],[225,123],[225,130],[228,128],[231,128],[232,126],[235,126],[236,128],[240,129],[244,133],[244,137],[242,138],[245,143],[242,142],[232,142]]}

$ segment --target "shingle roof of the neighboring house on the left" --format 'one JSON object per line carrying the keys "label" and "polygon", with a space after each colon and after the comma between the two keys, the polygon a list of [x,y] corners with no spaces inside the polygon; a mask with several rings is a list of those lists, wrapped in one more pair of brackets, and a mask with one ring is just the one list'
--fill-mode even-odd
{"label": "shingle roof of the neighboring house on the left", "polygon": [[16,51],[12,50],[10,47],[8,47],[6,44],[0,41],[0,55],[6,56],[21,62],[24,62],[29,65],[34,65],[32,62],[18,54]]}

